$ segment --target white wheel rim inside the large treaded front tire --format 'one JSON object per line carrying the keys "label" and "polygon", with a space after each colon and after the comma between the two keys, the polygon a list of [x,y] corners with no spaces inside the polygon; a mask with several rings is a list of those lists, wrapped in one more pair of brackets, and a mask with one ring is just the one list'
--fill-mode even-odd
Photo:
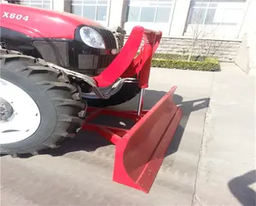
{"label": "white wheel rim inside the large treaded front tire", "polygon": [[[0,98],[7,102],[2,104],[0,144],[25,140],[37,131],[41,122],[37,104],[23,89],[3,78],[0,78],[0,91]],[[3,113],[8,113],[7,105],[12,107],[12,114],[3,119]]]}

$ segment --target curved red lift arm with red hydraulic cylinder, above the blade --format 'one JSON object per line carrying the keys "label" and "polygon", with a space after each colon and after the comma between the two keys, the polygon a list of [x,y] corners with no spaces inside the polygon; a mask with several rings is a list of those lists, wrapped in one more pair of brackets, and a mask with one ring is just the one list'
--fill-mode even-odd
{"label": "curved red lift arm with red hydraulic cylinder, above the blade", "polygon": [[[98,87],[108,87],[119,77],[132,77],[140,73],[140,87],[148,87],[152,55],[157,49],[162,33],[150,31],[143,26],[135,26],[125,46],[121,49],[113,62],[97,77],[94,77]],[[143,41],[143,51],[134,58]]]}

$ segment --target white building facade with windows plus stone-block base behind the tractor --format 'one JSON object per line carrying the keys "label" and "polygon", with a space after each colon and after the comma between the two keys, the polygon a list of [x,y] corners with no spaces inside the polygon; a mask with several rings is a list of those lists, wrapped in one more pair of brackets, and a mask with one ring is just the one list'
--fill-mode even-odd
{"label": "white building facade with windows plus stone-block base behind the tractor", "polygon": [[200,38],[195,54],[210,50],[209,54],[214,53],[220,60],[234,60],[241,37],[247,33],[245,17],[251,1],[255,0],[21,0],[21,3],[71,12],[108,27],[121,26],[128,36],[138,25],[163,31],[159,52],[188,51],[193,39]]}

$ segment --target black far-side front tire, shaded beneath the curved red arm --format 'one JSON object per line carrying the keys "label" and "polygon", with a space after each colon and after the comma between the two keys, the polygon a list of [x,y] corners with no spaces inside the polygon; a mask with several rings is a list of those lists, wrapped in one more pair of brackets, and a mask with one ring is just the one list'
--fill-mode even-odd
{"label": "black far-side front tire, shaded beneath the curved red arm", "polygon": [[83,100],[87,102],[88,106],[117,106],[125,103],[126,101],[132,100],[140,92],[141,88],[138,87],[137,83],[124,83],[123,87],[116,94],[113,94],[109,99],[103,100],[83,98]]}

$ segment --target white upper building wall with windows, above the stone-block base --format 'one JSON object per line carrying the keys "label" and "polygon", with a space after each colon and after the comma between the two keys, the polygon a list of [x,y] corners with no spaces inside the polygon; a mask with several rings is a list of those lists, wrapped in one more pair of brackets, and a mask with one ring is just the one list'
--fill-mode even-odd
{"label": "white upper building wall with windows, above the stone-block base", "polygon": [[[66,0],[65,3],[72,8],[67,12],[97,20],[104,26],[121,26],[128,34],[139,25],[163,31],[166,37],[191,37],[200,30],[203,37],[241,39],[249,1]],[[54,2],[64,3],[64,0]]]}

